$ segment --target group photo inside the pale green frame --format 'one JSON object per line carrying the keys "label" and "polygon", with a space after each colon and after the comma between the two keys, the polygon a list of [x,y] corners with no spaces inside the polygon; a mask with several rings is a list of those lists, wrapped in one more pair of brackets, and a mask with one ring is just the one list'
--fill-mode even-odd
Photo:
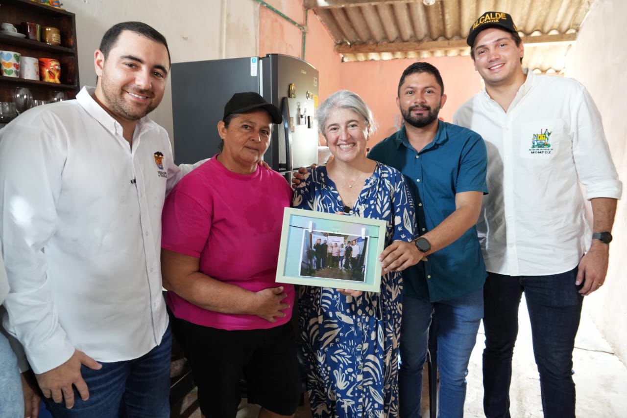
{"label": "group photo inside the pale green frame", "polygon": [[368,237],[321,230],[303,230],[300,277],[366,281]]}

